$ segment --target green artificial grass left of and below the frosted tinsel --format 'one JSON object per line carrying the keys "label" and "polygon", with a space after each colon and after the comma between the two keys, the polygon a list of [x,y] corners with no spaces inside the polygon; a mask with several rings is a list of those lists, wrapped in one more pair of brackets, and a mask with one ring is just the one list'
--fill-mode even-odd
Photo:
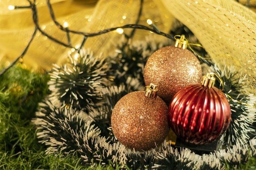
{"label": "green artificial grass left of and below the frosted tinsel", "polygon": [[1,170],[85,170],[106,169],[81,164],[77,152],[46,154],[45,145],[38,142],[37,131],[30,119],[40,102],[49,94],[49,77],[11,67],[0,76],[0,169]]}

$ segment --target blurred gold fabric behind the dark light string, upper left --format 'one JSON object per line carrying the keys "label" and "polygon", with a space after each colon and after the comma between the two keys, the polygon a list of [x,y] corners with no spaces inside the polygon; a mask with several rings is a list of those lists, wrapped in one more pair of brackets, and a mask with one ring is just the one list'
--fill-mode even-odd
{"label": "blurred gold fabric behind the dark light string, upper left", "polygon": [[[68,23],[68,28],[74,31],[96,33],[125,24],[135,24],[139,12],[139,0],[51,0],[56,20],[60,24]],[[157,22],[161,31],[168,31],[171,26],[171,16],[162,15],[165,9],[162,4],[151,0],[144,1],[144,10],[140,24],[146,25],[147,19]],[[29,6],[27,0],[0,1],[0,51],[6,54],[5,60],[13,61],[25,49],[34,31],[31,9],[9,10],[9,5]],[[46,0],[37,0],[38,21],[40,28],[57,40],[67,44],[64,31],[58,29],[50,18]],[[167,10],[166,10],[167,11]],[[126,29],[129,35],[131,29]],[[136,30],[136,38],[144,39],[149,31]],[[96,56],[108,56],[113,51],[121,35],[112,31],[103,35],[89,37],[84,47],[91,48]],[[81,44],[82,35],[70,33],[72,46]],[[66,61],[67,51],[70,48],[53,42],[41,33],[36,34],[23,62],[34,68],[51,68],[53,63],[60,64]],[[98,55],[103,54],[103,55]]]}

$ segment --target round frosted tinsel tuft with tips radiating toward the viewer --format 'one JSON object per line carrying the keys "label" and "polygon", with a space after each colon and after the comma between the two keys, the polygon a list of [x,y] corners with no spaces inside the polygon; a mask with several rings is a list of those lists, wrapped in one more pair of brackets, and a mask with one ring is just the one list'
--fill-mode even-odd
{"label": "round frosted tinsel tuft with tips radiating toward the viewer", "polygon": [[77,108],[101,105],[101,89],[111,84],[109,64],[84,49],[79,51],[79,57],[69,55],[69,59],[70,63],[63,66],[54,64],[49,81],[52,96]]}

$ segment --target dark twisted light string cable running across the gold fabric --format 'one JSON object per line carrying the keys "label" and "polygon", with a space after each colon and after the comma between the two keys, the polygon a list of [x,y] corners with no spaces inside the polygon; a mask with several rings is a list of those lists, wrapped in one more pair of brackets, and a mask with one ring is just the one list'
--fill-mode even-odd
{"label": "dark twisted light string cable running across the gold fabric", "polygon": [[[143,0],[141,0],[141,8],[139,9],[139,16],[137,18],[137,21],[136,21],[136,24],[126,24],[124,26],[117,26],[117,27],[112,27],[112,28],[109,28],[109,29],[104,29],[102,31],[99,31],[99,32],[96,32],[96,33],[86,33],[86,32],[82,32],[82,31],[75,31],[75,30],[71,30],[69,29],[68,27],[65,27],[65,26],[62,26],[60,23],[58,23],[56,21],[56,18],[55,18],[55,15],[54,15],[54,11],[52,9],[52,4],[50,3],[50,0],[47,0],[47,6],[49,8],[49,12],[50,12],[50,15],[51,15],[51,18],[52,20],[54,21],[54,24],[56,26],[58,26],[59,29],[61,29],[62,31],[65,31],[66,32],[66,35],[67,35],[67,42],[62,42],[56,38],[54,38],[53,36],[49,35],[48,33],[46,33],[45,31],[43,31],[43,29],[40,28],[40,25],[38,23],[38,13],[37,13],[37,8],[36,8],[36,0],[27,0],[29,2],[29,6],[26,6],[26,7],[18,7],[18,6],[9,6],[9,9],[10,10],[13,10],[13,9],[24,9],[24,8],[30,8],[31,11],[32,11],[32,15],[33,15],[33,22],[35,24],[35,31],[33,33],[33,35],[31,36],[31,40],[29,41],[28,45],[25,47],[25,50],[22,52],[22,54],[16,58],[16,60],[14,60],[9,66],[7,66],[6,68],[4,68],[1,72],[0,72],[0,75],[2,75],[3,73],[5,73],[9,68],[11,68],[11,66],[13,66],[14,64],[16,64],[19,59],[21,59],[26,53],[27,53],[27,50],[29,49],[29,45],[31,44],[32,40],[34,39],[35,35],[36,35],[36,32],[39,31],[42,35],[45,35],[47,36],[47,38],[49,38],[50,40],[52,40],[53,42],[56,42],[58,44],[61,44],[65,47],[69,47],[69,48],[74,48],[76,49],[76,51],[79,51],[81,49],[81,47],[83,46],[83,44],[85,43],[85,40],[88,38],[88,37],[94,37],[94,36],[97,36],[97,35],[101,35],[101,34],[104,34],[104,33],[108,33],[110,31],[115,31],[117,29],[134,29],[130,35],[130,38],[134,35],[134,31],[135,29],[142,29],[142,30],[147,30],[147,31],[151,31],[153,33],[156,33],[158,35],[162,35],[168,39],[171,39],[173,41],[175,41],[175,39],[167,34],[167,33],[164,33],[164,32],[161,32],[159,31],[158,29],[154,29],[154,28],[150,28],[148,26],[144,26],[144,25],[141,25],[141,24],[138,24],[139,22],[139,16],[141,15],[141,11],[142,11],[142,4],[143,4]],[[72,46],[71,44],[71,41],[70,41],[70,33],[74,33],[74,34],[78,34],[78,35],[83,35],[84,38],[83,38],[83,41],[81,42],[79,48],[75,48],[74,46]]]}

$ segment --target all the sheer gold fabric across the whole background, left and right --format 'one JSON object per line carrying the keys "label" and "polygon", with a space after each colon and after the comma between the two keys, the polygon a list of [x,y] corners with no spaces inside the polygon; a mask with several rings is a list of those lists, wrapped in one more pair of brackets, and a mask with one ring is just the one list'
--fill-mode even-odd
{"label": "all the sheer gold fabric across the whole background, left and right", "polygon": [[[134,24],[140,0],[51,0],[56,19],[69,29],[98,32],[111,27]],[[246,5],[256,0],[144,0],[139,24],[151,19],[162,32],[168,33],[173,18],[177,18],[195,34],[213,62],[222,69],[234,66],[247,75],[248,93],[256,93],[256,13]],[[26,6],[27,0],[0,1],[0,53],[2,61],[11,62],[23,51],[34,31],[30,9],[9,10],[9,5]],[[40,27],[49,35],[67,43],[65,32],[50,18],[45,0],[37,0]],[[125,29],[129,35],[131,29]],[[132,40],[144,40],[149,31],[136,30]],[[164,40],[156,36],[158,41]],[[84,47],[91,48],[98,57],[106,57],[121,38],[112,31],[89,37]],[[81,44],[83,36],[70,34],[73,46]],[[66,61],[64,47],[39,32],[36,34],[24,63],[34,68],[50,69],[53,63]]]}

